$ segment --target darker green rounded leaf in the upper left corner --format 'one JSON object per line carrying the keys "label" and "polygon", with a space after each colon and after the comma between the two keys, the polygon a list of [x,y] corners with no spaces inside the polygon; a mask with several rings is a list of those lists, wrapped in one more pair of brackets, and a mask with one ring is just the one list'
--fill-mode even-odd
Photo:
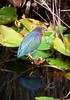
{"label": "darker green rounded leaf in the upper left corner", "polygon": [[16,18],[17,14],[13,7],[3,7],[0,10],[0,24],[8,24]]}

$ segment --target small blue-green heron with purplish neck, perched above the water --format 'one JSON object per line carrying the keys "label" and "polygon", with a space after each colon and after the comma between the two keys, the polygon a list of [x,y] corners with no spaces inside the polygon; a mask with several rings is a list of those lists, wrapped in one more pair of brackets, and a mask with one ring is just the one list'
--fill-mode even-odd
{"label": "small blue-green heron with purplish neck, perched above the water", "polygon": [[42,26],[37,26],[25,36],[18,48],[17,58],[31,54],[39,47],[42,41],[42,29]]}

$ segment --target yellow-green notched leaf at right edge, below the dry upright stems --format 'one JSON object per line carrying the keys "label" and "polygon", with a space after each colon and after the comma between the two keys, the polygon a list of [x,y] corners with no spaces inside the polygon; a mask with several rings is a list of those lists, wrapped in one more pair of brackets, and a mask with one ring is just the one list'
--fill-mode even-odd
{"label": "yellow-green notched leaf at right edge, below the dry upright stems", "polygon": [[70,56],[70,39],[67,37],[63,37],[63,41],[57,36],[54,37],[53,43],[54,48],[59,51],[60,53]]}

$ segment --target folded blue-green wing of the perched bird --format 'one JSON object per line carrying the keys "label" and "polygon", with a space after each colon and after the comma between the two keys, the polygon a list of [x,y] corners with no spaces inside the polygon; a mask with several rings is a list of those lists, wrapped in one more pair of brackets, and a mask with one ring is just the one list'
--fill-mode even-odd
{"label": "folded blue-green wing of the perched bird", "polygon": [[40,45],[40,38],[37,33],[32,32],[28,34],[22,41],[21,45],[18,48],[17,57],[27,55],[38,48]]}

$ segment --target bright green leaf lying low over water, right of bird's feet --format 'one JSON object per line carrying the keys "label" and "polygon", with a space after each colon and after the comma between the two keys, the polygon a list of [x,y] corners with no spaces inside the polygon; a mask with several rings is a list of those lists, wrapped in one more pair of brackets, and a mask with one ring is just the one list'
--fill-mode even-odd
{"label": "bright green leaf lying low over water, right of bird's feet", "polygon": [[57,58],[47,58],[46,61],[54,68],[70,69],[70,62]]}

